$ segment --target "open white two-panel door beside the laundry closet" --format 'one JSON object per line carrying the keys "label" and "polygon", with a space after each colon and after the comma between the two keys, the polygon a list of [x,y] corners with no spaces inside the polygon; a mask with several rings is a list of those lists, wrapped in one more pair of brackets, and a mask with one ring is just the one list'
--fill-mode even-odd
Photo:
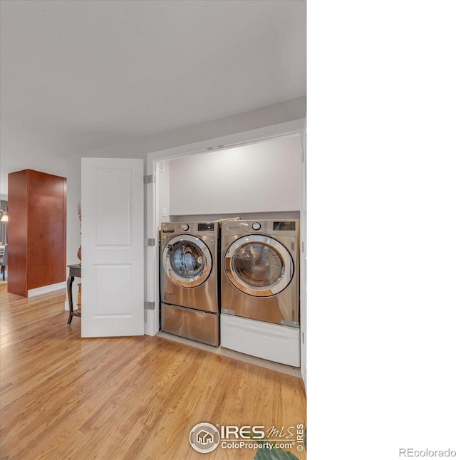
{"label": "open white two-panel door beside the laundry closet", "polygon": [[81,209],[81,336],[143,335],[143,160],[83,158]]}

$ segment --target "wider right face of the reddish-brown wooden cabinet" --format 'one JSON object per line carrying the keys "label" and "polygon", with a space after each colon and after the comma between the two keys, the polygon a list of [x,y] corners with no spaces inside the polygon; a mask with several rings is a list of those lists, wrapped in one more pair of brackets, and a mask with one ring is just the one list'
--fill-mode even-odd
{"label": "wider right face of the reddish-brown wooden cabinet", "polygon": [[66,179],[28,172],[27,288],[66,279]]}

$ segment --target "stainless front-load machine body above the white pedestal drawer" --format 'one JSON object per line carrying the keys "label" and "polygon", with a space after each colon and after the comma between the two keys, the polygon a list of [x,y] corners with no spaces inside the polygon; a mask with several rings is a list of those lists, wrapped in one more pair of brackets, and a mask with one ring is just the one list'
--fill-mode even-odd
{"label": "stainless front-load machine body above the white pedestal drawer", "polygon": [[222,313],[299,326],[299,220],[222,222]]}

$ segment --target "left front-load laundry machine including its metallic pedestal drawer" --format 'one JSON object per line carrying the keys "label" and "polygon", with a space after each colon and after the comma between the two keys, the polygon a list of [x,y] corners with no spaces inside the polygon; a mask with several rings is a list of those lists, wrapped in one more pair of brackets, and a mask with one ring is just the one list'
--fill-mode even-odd
{"label": "left front-load laundry machine including its metallic pedestal drawer", "polygon": [[218,239],[217,222],[162,223],[163,331],[219,345]]}

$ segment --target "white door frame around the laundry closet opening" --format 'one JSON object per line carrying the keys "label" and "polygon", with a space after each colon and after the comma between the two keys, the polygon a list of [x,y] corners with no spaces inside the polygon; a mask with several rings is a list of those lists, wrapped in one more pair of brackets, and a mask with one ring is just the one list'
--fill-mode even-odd
{"label": "white door frame around the laundry closet opening", "polygon": [[[271,140],[276,137],[282,137],[291,134],[299,134],[301,136],[301,209],[300,209],[300,229],[301,229],[301,257],[300,257],[300,280],[301,280],[301,293],[300,296],[300,310],[301,310],[301,375],[306,383],[306,347],[304,346],[304,338],[306,338],[306,147],[305,147],[305,133],[306,133],[306,118],[298,118],[289,122],[278,123],[276,125],[269,125],[266,127],[256,128],[243,132],[237,132],[230,135],[221,137],[214,137],[212,139],[194,142],[192,144],[179,145],[165,150],[157,150],[149,152],[146,155],[147,174],[155,177],[155,181],[150,182],[146,189],[146,234],[149,238],[155,238],[158,241],[158,231],[160,221],[158,209],[158,164],[164,160],[175,160],[187,155],[195,155],[214,150],[226,150],[233,147],[242,147],[243,145],[256,144],[265,140]],[[150,210],[152,210],[150,212]],[[146,281],[146,299],[155,302],[154,310],[146,310],[145,315],[145,333],[147,335],[155,335],[159,330],[159,305],[160,305],[160,291],[159,291],[159,261],[158,244],[147,248],[146,260],[146,280],[153,280],[153,282]],[[149,274],[147,274],[149,273]],[[304,319],[303,319],[304,316]]]}

